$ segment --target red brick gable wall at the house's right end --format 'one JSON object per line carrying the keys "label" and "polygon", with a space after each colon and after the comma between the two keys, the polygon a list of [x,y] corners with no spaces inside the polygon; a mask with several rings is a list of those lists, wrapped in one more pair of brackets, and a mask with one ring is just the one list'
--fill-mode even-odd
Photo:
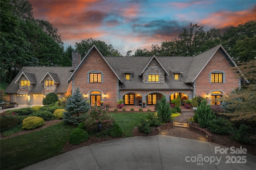
{"label": "red brick gable wall at the house's right end", "polygon": [[[228,94],[240,86],[239,78],[236,78],[236,72],[230,69],[231,66],[224,57],[224,54],[218,50],[202,72],[196,78],[194,83],[194,95],[206,98],[206,95],[212,91],[221,91]],[[210,83],[209,76],[213,71],[223,72],[223,83]]]}

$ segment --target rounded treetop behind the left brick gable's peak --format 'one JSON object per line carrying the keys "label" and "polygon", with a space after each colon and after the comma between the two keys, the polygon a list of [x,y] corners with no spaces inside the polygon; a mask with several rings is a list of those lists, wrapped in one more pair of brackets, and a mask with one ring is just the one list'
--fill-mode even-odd
{"label": "rounded treetop behind the left brick gable's peak", "polygon": [[107,45],[104,41],[95,40],[92,38],[84,39],[80,43],[76,43],[75,51],[77,51],[78,53],[81,54],[82,57],[84,57],[93,45],[96,45],[96,47],[99,49],[100,53],[103,56],[112,56],[112,57],[122,56],[118,52],[118,50],[113,48],[111,44]]}

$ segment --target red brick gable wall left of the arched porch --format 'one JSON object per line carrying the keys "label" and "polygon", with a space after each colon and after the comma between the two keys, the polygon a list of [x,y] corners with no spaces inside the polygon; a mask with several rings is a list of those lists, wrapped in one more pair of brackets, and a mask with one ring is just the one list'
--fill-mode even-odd
{"label": "red brick gable wall left of the arched porch", "polygon": [[[102,73],[101,83],[89,82],[89,73],[95,70]],[[111,103],[110,107],[115,107],[118,99],[118,82],[119,80],[114,72],[104,61],[100,53],[94,49],[74,75],[72,90],[74,92],[79,87],[81,93],[88,95],[88,100],[90,100],[91,91],[99,91],[102,93],[102,101]],[[103,97],[104,94],[106,94],[106,98]]]}

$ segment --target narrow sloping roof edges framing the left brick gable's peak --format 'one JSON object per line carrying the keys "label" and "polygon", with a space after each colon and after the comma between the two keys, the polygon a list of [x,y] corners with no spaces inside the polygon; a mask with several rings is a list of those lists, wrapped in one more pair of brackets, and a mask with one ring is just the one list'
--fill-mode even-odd
{"label": "narrow sloping roof edges framing the left brick gable's peak", "polygon": [[105,59],[105,57],[103,57],[103,55],[100,53],[100,51],[98,50],[98,48],[93,45],[92,48],[88,51],[88,53],[86,53],[86,55],[84,56],[84,58],[82,59],[82,61],[78,64],[78,66],[76,67],[76,69],[72,72],[72,74],[70,75],[70,77],[68,78],[68,80],[66,82],[70,82],[73,78],[73,76],[76,74],[76,72],[81,68],[82,64],[84,63],[84,61],[86,61],[86,59],[90,56],[90,54],[92,53],[92,51],[96,49],[98,51],[98,53],[100,54],[100,56],[104,59],[104,61],[108,64],[108,66],[110,67],[110,69],[114,72],[114,74],[117,76],[117,78],[120,80],[120,82],[123,82],[121,80],[121,78],[118,76],[118,74],[116,74],[115,70],[112,68],[112,66],[108,63],[108,61]]}

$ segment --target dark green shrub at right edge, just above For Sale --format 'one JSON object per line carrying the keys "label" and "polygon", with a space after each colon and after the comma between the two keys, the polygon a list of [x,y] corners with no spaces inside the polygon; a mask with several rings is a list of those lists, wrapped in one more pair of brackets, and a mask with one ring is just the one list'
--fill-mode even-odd
{"label": "dark green shrub at right edge, just above For Sale", "polygon": [[232,136],[230,136],[230,138],[240,143],[255,145],[256,142],[254,139],[252,139],[252,134],[253,132],[251,127],[242,124],[240,125],[239,129],[234,130],[234,133]]}

